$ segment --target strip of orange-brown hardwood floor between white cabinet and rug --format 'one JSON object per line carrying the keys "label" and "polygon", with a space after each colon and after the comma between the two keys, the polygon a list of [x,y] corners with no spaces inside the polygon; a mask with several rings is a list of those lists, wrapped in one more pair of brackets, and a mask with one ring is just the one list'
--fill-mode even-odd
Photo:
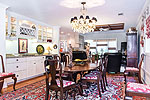
{"label": "strip of orange-brown hardwood floor between white cabinet and rug", "polygon": [[[42,79],[45,79],[45,75],[35,77],[35,78],[29,79],[29,80],[25,80],[25,81],[22,81],[22,82],[18,82],[16,84],[16,89],[24,87],[24,86],[32,84],[32,83],[35,83],[35,82],[38,82],[39,80],[42,80]],[[10,91],[13,91],[13,84],[9,85],[7,88],[3,88],[2,89],[2,94],[10,92]]]}

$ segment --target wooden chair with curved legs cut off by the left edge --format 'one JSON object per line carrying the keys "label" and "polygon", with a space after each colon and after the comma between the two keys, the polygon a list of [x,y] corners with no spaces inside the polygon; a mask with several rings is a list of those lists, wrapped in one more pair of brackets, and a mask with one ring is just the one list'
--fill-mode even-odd
{"label": "wooden chair with curved legs cut off by the left edge", "polygon": [[15,91],[15,85],[16,85],[16,82],[17,82],[17,78],[16,78],[14,73],[5,72],[3,56],[0,55],[0,58],[1,58],[1,64],[2,64],[2,72],[0,73],[0,92],[3,88],[4,79],[10,78],[10,77],[14,80],[13,89]]}

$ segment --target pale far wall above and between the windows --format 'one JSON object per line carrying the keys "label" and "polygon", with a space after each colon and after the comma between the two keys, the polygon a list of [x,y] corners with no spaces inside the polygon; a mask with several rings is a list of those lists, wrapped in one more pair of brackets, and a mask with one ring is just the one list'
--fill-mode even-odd
{"label": "pale far wall above and between the windows", "polygon": [[126,32],[123,31],[106,31],[106,32],[92,32],[84,35],[84,40],[97,39],[117,39],[117,49],[121,49],[121,42],[126,42]]}

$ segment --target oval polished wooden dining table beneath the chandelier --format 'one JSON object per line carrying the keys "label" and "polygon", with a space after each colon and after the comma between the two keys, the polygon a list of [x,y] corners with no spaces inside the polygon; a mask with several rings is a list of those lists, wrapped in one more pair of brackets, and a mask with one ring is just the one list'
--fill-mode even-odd
{"label": "oval polished wooden dining table beneath the chandelier", "polygon": [[[70,79],[72,81],[76,82],[79,94],[81,96],[87,96],[87,94],[83,94],[83,89],[82,89],[82,83],[81,83],[81,78],[84,75],[84,72],[89,72],[92,70],[95,70],[98,68],[98,63],[91,63],[91,62],[85,62],[82,64],[78,64],[73,62],[72,66],[63,66],[62,71],[64,73],[68,73],[70,76]],[[59,67],[56,69],[56,71],[59,71]],[[80,75],[79,79],[77,78],[78,75]]]}

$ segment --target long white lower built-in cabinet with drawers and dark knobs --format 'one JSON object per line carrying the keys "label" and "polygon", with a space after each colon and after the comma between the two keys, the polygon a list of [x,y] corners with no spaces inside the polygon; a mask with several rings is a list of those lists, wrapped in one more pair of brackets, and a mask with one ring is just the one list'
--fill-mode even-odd
{"label": "long white lower built-in cabinet with drawers and dark knobs", "polygon": [[[44,73],[45,56],[7,58],[6,72],[16,74],[17,80],[26,80],[31,77]],[[12,79],[8,79],[7,83],[11,83]]]}

